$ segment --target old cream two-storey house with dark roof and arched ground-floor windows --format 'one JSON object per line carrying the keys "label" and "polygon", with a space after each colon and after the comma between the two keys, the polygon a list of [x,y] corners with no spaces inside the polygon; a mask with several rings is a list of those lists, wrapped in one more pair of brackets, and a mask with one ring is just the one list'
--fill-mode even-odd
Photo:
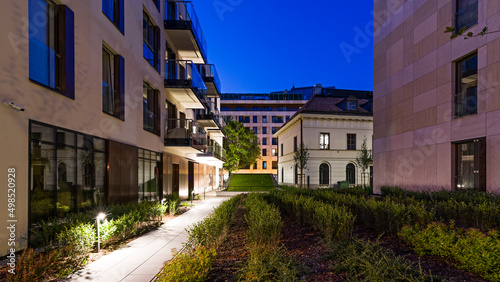
{"label": "old cream two-storey house with dark roof and arched ground-floor windows", "polygon": [[[362,171],[356,157],[366,140],[372,149],[372,92],[331,89],[315,95],[274,134],[278,148],[278,183],[328,188],[338,181],[371,185],[371,166]],[[307,167],[294,160],[301,144],[307,148]]]}

